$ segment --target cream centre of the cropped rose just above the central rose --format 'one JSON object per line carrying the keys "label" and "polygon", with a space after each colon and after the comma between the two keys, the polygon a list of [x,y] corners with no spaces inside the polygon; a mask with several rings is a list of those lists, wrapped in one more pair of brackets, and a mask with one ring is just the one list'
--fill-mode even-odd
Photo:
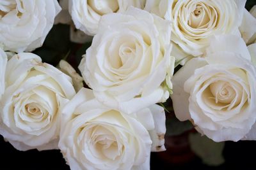
{"label": "cream centre of the cropped rose just above the central rose", "polygon": [[88,0],[87,2],[99,15],[116,12],[119,9],[117,0]]}

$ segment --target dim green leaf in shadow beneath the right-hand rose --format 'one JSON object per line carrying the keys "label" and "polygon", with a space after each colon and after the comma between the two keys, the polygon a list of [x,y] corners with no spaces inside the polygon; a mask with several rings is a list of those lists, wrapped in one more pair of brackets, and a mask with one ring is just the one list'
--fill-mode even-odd
{"label": "dim green leaf in shadow beneath the right-hand rose", "polygon": [[189,143],[191,150],[195,152],[204,164],[208,166],[220,166],[225,162],[222,152],[225,146],[224,142],[216,143],[207,136],[201,134],[189,134]]}

